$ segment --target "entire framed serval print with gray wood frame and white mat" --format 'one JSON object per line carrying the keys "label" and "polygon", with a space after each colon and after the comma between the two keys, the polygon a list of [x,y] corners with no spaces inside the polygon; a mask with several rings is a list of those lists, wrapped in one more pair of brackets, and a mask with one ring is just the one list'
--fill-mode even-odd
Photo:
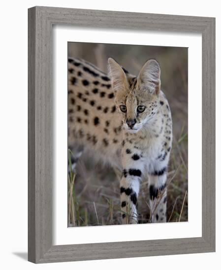
{"label": "entire framed serval print with gray wood frame and white mat", "polygon": [[29,9],[29,261],[215,251],[215,19]]}

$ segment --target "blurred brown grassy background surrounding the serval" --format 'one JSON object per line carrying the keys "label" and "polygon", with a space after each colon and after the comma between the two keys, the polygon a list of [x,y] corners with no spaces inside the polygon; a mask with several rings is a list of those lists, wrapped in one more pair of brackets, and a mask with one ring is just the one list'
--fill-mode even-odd
{"label": "blurred brown grassy background surrounding the serval", "polygon": [[[107,72],[113,57],[133,75],[150,58],[161,69],[161,89],[173,120],[173,146],[168,167],[167,220],[188,221],[188,48],[68,42],[68,56],[83,58]],[[68,179],[68,226],[121,224],[119,180],[111,167],[80,158],[76,176]],[[150,218],[148,183],[138,198],[139,223]]]}

